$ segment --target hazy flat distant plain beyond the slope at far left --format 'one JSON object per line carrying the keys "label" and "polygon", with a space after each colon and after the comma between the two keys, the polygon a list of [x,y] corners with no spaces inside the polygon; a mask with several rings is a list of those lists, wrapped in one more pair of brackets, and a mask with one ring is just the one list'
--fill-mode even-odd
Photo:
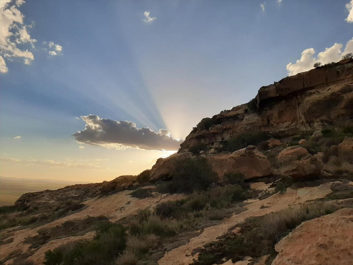
{"label": "hazy flat distant plain beyond the slope at far left", "polygon": [[24,193],[39,192],[46,189],[60,189],[68,185],[88,182],[70,182],[54,179],[9,178],[0,176],[0,206],[13,205]]}

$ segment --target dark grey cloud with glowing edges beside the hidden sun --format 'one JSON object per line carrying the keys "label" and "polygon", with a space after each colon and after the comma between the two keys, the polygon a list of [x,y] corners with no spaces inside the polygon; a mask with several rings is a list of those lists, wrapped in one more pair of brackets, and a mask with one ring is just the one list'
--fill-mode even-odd
{"label": "dark grey cloud with glowing edges beside the hidden sun", "polygon": [[129,121],[102,119],[97,115],[81,116],[85,129],[74,133],[78,143],[98,145],[107,148],[127,147],[146,150],[178,150],[182,139],[174,139],[168,129],[153,131],[150,128],[137,128]]}

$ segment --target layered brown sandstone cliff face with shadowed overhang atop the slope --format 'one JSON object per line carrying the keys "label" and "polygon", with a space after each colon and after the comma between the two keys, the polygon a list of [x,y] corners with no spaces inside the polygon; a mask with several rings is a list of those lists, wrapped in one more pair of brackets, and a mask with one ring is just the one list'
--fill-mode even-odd
{"label": "layered brown sandstone cliff face with shadowed overhang atop the slope", "polygon": [[255,103],[255,111],[243,104],[215,115],[214,125],[193,130],[180,151],[198,142],[210,146],[248,131],[261,130],[281,137],[296,135],[303,130],[321,129],[337,118],[353,116],[353,59],[261,87]]}

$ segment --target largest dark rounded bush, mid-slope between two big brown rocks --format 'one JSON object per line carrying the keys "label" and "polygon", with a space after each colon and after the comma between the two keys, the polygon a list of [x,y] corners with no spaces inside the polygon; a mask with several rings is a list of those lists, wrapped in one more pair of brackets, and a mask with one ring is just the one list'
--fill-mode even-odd
{"label": "largest dark rounded bush, mid-slope between two big brown rocks", "polygon": [[171,177],[159,187],[162,193],[192,193],[194,190],[206,190],[217,182],[216,173],[204,157],[180,159]]}

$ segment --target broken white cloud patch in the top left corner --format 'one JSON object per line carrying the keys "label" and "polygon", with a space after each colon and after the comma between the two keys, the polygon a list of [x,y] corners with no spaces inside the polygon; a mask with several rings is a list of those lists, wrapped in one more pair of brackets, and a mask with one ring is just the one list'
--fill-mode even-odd
{"label": "broken white cloud patch in the top left corner", "polygon": [[18,7],[23,0],[0,1],[0,72],[6,73],[8,68],[4,58],[22,58],[25,64],[34,60],[34,55],[28,49],[19,48],[18,45],[34,47],[36,39],[32,39],[28,32],[31,25],[24,23],[24,15]]}

